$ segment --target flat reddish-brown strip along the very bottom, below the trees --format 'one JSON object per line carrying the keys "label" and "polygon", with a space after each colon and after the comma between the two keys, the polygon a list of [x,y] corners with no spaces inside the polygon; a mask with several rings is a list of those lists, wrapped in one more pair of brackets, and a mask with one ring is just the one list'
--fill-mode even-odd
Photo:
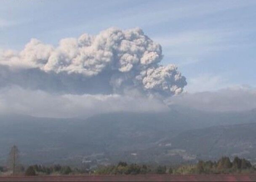
{"label": "flat reddish-brown strip along the very bottom, below the trees", "polygon": [[256,174],[0,177],[0,182],[256,182]]}

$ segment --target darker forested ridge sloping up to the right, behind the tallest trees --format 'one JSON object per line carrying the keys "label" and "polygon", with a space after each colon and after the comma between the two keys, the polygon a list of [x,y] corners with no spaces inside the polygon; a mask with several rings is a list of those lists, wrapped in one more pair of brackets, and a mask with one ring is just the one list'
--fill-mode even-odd
{"label": "darker forested ridge sloping up to the right, behind the tallest trees", "polygon": [[214,126],[181,132],[170,140],[174,148],[198,159],[241,156],[256,161],[256,123]]}

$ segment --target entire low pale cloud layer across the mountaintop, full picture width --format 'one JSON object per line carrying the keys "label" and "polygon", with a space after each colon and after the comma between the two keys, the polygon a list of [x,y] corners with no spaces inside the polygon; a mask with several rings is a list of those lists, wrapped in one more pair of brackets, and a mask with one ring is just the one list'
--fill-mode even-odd
{"label": "entire low pale cloud layer across the mountaintop, full picture width", "polygon": [[0,113],[37,117],[88,117],[106,112],[168,112],[166,104],[206,111],[244,111],[256,108],[256,89],[224,88],[218,91],[183,93],[165,100],[133,90],[120,94],[51,94],[17,86],[0,89]]}

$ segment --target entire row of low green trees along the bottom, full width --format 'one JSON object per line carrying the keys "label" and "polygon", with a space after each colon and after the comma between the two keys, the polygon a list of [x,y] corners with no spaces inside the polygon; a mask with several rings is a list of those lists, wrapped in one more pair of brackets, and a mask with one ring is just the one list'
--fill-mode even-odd
{"label": "entire row of low green trees along the bottom, full width", "polygon": [[[0,166],[0,172],[5,172],[8,168]],[[70,166],[55,164],[52,166],[32,165],[26,169],[24,167],[19,174],[28,176],[34,175],[67,175],[67,174],[234,174],[234,173],[255,173],[256,168],[250,161],[235,157],[233,161],[229,157],[222,157],[218,161],[198,161],[197,164],[180,166],[164,165],[139,165],[119,162],[116,165],[98,166],[91,170],[81,170]]]}

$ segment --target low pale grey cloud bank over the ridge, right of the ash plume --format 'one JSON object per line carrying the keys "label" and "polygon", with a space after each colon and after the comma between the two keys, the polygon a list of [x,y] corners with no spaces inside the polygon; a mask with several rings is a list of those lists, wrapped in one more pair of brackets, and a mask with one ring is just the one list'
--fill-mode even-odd
{"label": "low pale grey cloud bank over the ridge, right of the ash plume", "polygon": [[256,88],[233,86],[217,91],[184,93],[170,98],[168,103],[217,112],[251,110],[256,109]]}

